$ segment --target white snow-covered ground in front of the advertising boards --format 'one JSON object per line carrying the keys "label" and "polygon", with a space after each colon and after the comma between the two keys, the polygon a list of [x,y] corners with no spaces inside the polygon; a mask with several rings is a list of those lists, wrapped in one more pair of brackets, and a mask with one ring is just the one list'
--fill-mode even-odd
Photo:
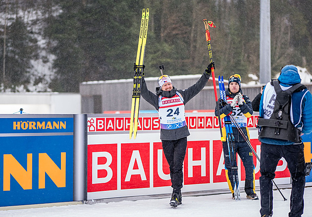
{"label": "white snow-covered ground in front of the advertising boards", "polygon": [[[273,191],[273,217],[287,217],[291,189],[282,189],[284,201]],[[257,192],[260,195],[260,192]],[[312,217],[312,187],[305,190],[305,210],[302,217]],[[169,198],[79,204],[60,207],[0,211],[0,217],[260,217],[260,200],[251,201],[242,193],[242,200],[232,200],[231,194],[184,196],[182,205],[169,206]]]}

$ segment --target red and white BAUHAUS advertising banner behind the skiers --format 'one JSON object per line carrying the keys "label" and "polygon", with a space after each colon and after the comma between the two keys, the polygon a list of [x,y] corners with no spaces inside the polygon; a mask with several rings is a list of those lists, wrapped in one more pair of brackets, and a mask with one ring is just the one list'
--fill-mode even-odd
{"label": "red and white BAUHAUS advertising banner behind the skiers", "polygon": [[[228,189],[217,118],[214,113],[186,113],[186,116],[191,135],[184,160],[182,191]],[[169,166],[159,139],[158,115],[142,114],[138,120],[137,138],[129,139],[127,114],[88,115],[88,200],[172,191]],[[248,118],[248,128],[252,146],[260,156],[257,121],[257,116]],[[244,186],[245,170],[238,160],[240,186]],[[260,163],[255,156],[254,163],[256,186],[259,186]],[[284,159],[277,166],[274,180],[277,184],[291,183]]]}

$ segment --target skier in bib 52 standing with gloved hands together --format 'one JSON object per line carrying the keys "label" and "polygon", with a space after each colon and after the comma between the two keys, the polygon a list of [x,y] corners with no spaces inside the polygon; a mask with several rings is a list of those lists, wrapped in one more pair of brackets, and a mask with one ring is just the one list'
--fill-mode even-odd
{"label": "skier in bib 52 standing with gloved hands together", "polygon": [[[253,114],[252,104],[248,96],[242,94],[241,89],[241,77],[238,74],[232,75],[228,81],[228,88],[225,91],[227,103],[226,105],[221,105],[221,99],[218,100],[220,118],[232,114],[236,122],[239,124],[245,135],[248,135],[247,129],[247,118],[251,117]],[[215,107],[215,115],[218,116],[217,107]],[[245,193],[246,197],[250,200],[259,200],[257,194],[255,193],[255,165],[253,161],[253,152],[249,147],[248,143],[242,135],[238,132],[238,129],[232,123],[232,130],[235,139],[234,155],[236,152],[243,161],[246,180],[245,180]],[[222,129],[223,135],[226,135],[225,128]],[[236,171],[231,167],[230,164],[230,153],[227,142],[222,142],[226,179],[229,184],[229,189],[232,192],[232,197],[234,197],[234,186],[235,183],[232,179],[235,176]],[[236,158],[235,158],[236,159]],[[237,165],[237,162],[234,162]],[[236,183],[238,184],[238,183]]]}

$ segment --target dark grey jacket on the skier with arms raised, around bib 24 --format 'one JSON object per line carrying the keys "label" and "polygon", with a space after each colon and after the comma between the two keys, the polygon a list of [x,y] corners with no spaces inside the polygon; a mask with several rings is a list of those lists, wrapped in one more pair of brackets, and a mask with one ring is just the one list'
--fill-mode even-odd
{"label": "dark grey jacket on the skier with arms raised, around bib 24", "polygon": [[[142,81],[142,87],[141,87],[141,96],[151,105],[155,107],[155,109],[158,111],[158,98],[159,95],[171,98],[176,94],[176,91],[181,93],[184,105],[190,101],[196,94],[198,94],[206,85],[208,82],[209,76],[204,73],[202,77],[197,81],[197,83],[187,89],[176,89],[173,88],[170,91],[162,91],[159,89],[156,94],[152,93],[150,90],[148,90],[146,86],[146,82],[143,77]],[[166,130],[166,129],[160,129],[160,139],[161,140],[177,140],[180,138],[184,138],[186,136],[189,136],[190,132],[187,128],[187,126],[184,126],[182,128],[174,129],[174,130]]]}

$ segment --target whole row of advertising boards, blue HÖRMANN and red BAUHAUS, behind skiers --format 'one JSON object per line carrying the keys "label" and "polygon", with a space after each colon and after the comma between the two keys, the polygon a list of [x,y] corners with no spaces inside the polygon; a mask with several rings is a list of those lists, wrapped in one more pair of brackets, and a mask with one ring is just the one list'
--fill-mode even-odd
{"label": "whole row of advertising boards, blue H\u00d6RMANN and red BAUHAUS, behind skiers", "polygon": [[[226,190],[218,120],[186,113],[191,135],[184,160],[183,192]],[[129,139],[129,114],[0,115],[0,206],[85,201],[170,193],[169,166],[155,113],[141,114]],[[248,118],[251,144],[260,156],[257,116]],[[311,162],[310,135],[303,136]],[[240,186],[245,171],[239,160]],[[256,186],[260,163],[254,156]],[[284,159],[276,184],[290,184]],[[307,176],[312,182],[312,175]]]}

